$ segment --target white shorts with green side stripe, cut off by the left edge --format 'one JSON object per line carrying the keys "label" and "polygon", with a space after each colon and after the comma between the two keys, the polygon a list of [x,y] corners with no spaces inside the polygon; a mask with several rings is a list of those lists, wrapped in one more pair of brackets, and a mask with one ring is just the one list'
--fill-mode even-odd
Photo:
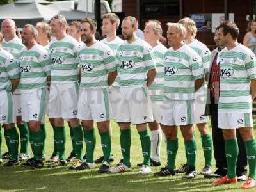
{"label": "white shorts with green side stripe, cut off by the left edge", "polygon": [[12,124],[15,122],[13,95],[10,91],[0,90],[0,124]]}

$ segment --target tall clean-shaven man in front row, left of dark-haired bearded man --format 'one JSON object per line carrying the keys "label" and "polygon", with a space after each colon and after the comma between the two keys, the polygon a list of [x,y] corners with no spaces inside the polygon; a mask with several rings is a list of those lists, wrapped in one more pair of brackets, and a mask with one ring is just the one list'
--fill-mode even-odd
{"label": "tall clean-shaven man in front row, left of dark-haired bearded man", "polygon": [[[49,118],[54,118],[54,143],[59,154],[59,161],[49,167],[65,166],[66,134],[64,120],[69,120],[74,131],[77,159],[82,159],[83,129],[77,119],[78,102],[78,42],[67,35],[67,21],[62,15],[51,19],[51,31],[55,37],[50,44],[51,50],[51,88],[49,97]],[[74,165],[78,161],[74,161]]]}

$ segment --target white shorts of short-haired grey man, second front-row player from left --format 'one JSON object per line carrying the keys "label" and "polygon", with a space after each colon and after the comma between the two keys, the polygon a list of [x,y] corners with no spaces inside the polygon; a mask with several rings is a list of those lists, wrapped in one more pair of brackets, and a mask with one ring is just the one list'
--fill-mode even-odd
{"label": "white shorts of short-haired grey man, second front-row player from left", "polygon": [[22,121],[37,121],[44,124],[49,93],[46,87],[31,93],[21,93]]}

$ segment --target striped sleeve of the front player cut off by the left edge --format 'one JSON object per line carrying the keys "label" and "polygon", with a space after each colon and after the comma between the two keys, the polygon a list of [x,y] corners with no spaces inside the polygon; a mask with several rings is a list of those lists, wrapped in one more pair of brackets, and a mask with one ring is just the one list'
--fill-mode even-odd
{"label": "striped sleeve of the front player cut off by the left edge", "polygon": [[6,72],[11,80],[20,78],[20,65],[15,58],[10,57],[6,60]]}

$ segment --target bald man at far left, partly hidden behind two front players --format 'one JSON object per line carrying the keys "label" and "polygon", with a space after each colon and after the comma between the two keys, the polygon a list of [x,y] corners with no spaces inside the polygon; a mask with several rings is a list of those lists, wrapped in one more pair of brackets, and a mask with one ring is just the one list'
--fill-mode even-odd
{"label": "bald man at far left, partly hidden behind two front players", "polygon": [[[16,24],[12,19],[3,20],[1,24],[1,31],[4,36],[3,49],[17,60],[20,56],[20,50],[24,47],[22,45],[20,38],[16,35]],[[19,65],[19,62],[17,62]],[[15,92],[13,92],[13,105],[14,105],[14,115],[16,116],[16,125],[20,132],[20,153],[19,159],[26,160],[29,157],[28,153],[28,142],[29,142],[29,131],[26,124],[22,124],[21,120],[21,106],[20,106],[20,90],[19,86]],[[16,130],[16,129],[15,129]],[[17,130],[16,130],[17,132]],[[6,143],[8,143],[8,137],[6,137]],[[10,157],[9,153],[3,154],[3,159]]]}

